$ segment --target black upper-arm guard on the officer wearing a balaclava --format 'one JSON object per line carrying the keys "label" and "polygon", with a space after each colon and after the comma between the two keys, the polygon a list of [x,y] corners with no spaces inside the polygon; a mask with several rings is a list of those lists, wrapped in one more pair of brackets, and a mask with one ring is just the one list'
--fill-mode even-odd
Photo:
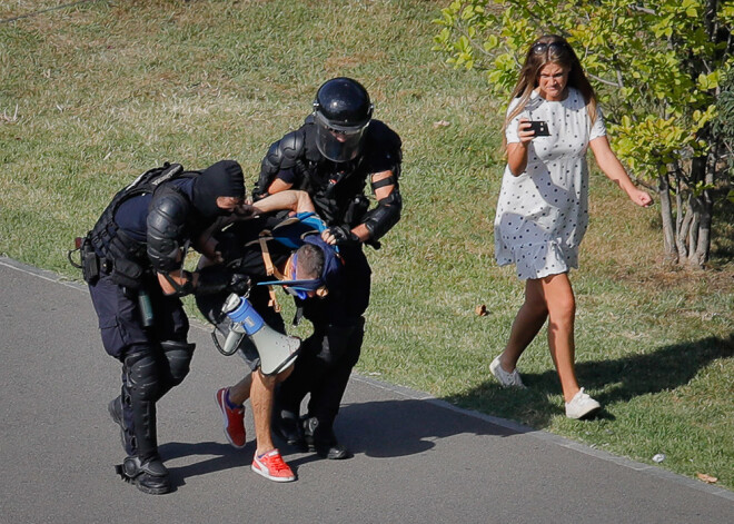
{"label": "black upper-arm guard on the officer wearing a balaclava", "polygon": [[178,260],[186,229],[188,202],[182,196],[169,192],[153,199],[148,212],[148,258],[155,270],[169,273],[179,269]]}

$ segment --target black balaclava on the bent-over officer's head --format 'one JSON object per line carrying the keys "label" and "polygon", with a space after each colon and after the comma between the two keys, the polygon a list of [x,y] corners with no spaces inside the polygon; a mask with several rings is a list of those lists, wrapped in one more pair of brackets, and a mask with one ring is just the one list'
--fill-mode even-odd
{"label": "black balaclava on the bent-over officer's head", "polygon": [[194,206],[206,217],[228,215],[230,211],[217,206],[218,197],[245,197],[242,168],[235,160],[220,160],[206,168],[194,180]]}

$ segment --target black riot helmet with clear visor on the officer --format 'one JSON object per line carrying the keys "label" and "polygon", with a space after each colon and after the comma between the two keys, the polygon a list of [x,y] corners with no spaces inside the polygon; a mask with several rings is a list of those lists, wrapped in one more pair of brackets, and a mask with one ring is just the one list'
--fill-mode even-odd
{"label": "black riot helmet with clear visor on the officer", "polygon": [[335,162],[354,160],[371,117],[373,105],[361,83],[345,77],[326,81],[314,100],[318,150]]}

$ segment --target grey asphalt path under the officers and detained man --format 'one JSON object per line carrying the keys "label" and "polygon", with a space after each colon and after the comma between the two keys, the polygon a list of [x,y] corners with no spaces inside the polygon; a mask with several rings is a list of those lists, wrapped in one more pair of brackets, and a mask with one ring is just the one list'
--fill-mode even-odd
{"label": "grey asphalt path under the officers and detained man", "polygon": [[[1,523],[727,523],[734,493],[354,375],[325,461],[282,448],[298,481],[269,482],[224,437],[215,390],[240,378],[204,325],[186,382],[159,403],[175,491],[146,495],[107,403],[119,365],[78,283],[0,257]],[[248,431],[254,434],[247,415]]]}

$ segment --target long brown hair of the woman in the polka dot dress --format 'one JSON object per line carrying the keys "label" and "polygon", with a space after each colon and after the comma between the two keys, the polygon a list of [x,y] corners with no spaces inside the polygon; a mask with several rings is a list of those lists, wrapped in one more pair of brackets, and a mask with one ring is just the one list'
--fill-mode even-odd
{"label": "long brown hair of the woman in the polka dot dress", "polygon": [[515,109],[507,115],[505,123],[502,127],[503,149],[507,146],[507,138],[505,136],[507,125],[527,106],[533,90],[538,87],[540,69],[547,63],[557,63],[568,69],[568,83],[566,87],[573,87],[581,91],[586,102],[586,110],[588,111],[592,125],[596,121],[596,95],[588,78],[586,78],[584,68],[582,68],[574,49],[565,38],[557,34],[545,34],[534,41],[527,50],[519,80],[510,96],[510,100],[515,98],[519,98],[519,100]]}

